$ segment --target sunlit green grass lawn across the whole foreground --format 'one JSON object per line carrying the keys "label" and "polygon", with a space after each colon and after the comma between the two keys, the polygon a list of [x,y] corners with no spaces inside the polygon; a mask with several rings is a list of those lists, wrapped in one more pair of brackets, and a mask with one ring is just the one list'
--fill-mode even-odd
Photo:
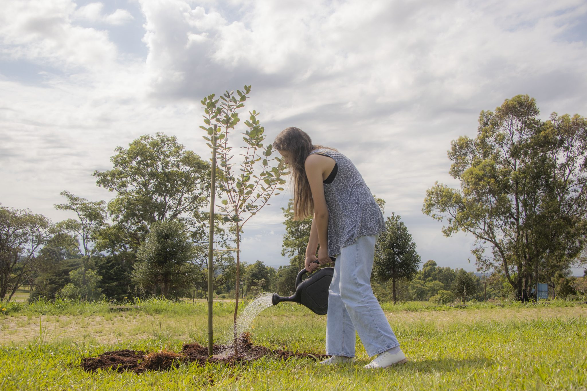
{"label": "sunlit green grass lawn across the whole foreground", "polygon": [[[205,344],[205,303],[141,302],[138,310],[111,312],[105,303],[17,303],[0,315],[0,390],[587,390],[587,305],[475,304],[468,308],[424,303],[384,304],[410,361],[399,368],[366,370],[357,362],[324,367],[311,359],[197,366],[167,372],[86,373],[80,360],[104,351],[179,351]],[[220,341],[234,304],[215,304]],[[255,344],[323,352],[326,317],[296,304],[269,308],[251,329]]]}

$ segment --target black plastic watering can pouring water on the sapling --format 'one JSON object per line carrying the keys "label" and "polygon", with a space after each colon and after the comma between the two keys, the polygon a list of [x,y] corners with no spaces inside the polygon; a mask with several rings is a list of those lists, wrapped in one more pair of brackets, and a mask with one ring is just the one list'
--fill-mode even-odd
{"label": "black plastic watering can pouring water on the sapling", "polygon": [[[330,258],[332,261],[332,257]],[[316,261],[318,263],[318,261]],[[283,297],[276,293],[273,294],[273,305],[282,301],[295,301],[303,304],[318,315],[326,315],[328,312],[328,288],[332,275],[333,267],[323,267],[312,273],[308,278],[302,281],[304,274],[308,273],[305,268],[299,271],[295,279],[295,293],[290,297]]]}

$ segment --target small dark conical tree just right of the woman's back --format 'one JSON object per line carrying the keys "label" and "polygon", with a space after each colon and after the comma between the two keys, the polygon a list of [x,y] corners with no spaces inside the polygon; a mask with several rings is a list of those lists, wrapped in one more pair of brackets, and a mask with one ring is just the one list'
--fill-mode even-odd
{"label": "small dark conical tree just right of the woman's back", "polygon": [[392,281],[393,302],[396,302],[396,281],[410,281],[420,266],[416,243],[412,242],[407,227],[399,215],[392,213],[385,222],[386,231],[375,244],[373,274],[377,280]]}

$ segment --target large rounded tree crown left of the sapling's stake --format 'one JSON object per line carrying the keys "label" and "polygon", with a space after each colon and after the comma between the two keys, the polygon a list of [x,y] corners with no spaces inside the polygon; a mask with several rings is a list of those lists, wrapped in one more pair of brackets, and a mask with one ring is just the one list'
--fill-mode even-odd
{"label": "large rounded tree crown left of the sapling's stake", "polygon": [[149,226],[163,220],[178,220],[204,242],[208,214],[201,210],[210,195],[210,164],[161,132],[114,151],[113,169],[93,174],[98,186],[116,192],[107,205],[114,224],[100,233],[99,249],[136,251]]}

